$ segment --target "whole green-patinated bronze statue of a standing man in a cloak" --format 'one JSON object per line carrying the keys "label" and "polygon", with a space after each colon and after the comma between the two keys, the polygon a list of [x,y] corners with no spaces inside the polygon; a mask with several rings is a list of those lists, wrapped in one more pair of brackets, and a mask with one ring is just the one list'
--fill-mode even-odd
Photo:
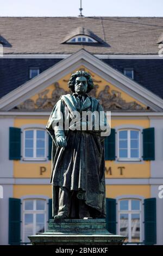
{"label": "whole green-patinated bronze statue of a standing man in a cloak", "polygon": [[[55,219],[103,218],[105,137],[102,131],[108,129],[106,117],[99,100],[87,94],[94,87],[87,72],[76,71],[68,87],[72,94],[60,97],[46,126],[53,139],[53,216]],[[90,113],[91,128],[90,119],[83,118],[83,112]],[[93,116],[93,112],[98,115]],[[68,128],[65,127],[67,120]]]}

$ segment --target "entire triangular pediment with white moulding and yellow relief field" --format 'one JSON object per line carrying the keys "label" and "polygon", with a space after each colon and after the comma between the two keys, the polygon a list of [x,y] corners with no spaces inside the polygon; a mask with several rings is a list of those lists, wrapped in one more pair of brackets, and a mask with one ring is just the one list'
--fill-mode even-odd
{"label": "entire triangular pediment with white moulding and yellow relief field", "polygon": [[90,53],[80,50],[39,76],[5,95],[0,100],[1,111],[50,111],[62,94],[70,93],[67,82],[74,71],[90,72],[97,97],[105,110],[162,111],[163,100],[130,80]]}

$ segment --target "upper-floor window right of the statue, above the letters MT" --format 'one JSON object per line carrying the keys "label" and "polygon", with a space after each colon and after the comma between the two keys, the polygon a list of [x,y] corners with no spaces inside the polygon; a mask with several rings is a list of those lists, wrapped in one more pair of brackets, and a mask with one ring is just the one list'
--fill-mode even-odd
{"label": "upper-floor window right of the statue, above the letters MT", "polygon": [[118,160],[140,160],[140,130],[118,130]]}

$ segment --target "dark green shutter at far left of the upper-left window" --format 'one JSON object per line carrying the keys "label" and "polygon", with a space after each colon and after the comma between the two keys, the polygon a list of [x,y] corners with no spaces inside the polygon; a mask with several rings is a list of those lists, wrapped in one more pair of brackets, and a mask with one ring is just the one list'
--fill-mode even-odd
{"label": "dark green shutter at far left of the upper-left window", "polygon": [[21,129],[9,127],[9,160],[21,159]]}

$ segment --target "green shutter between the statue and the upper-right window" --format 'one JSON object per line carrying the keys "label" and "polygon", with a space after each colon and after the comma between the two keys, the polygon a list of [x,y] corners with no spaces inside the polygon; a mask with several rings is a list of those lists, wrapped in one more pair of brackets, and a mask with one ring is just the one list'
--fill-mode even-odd
{"label": "green shutter between the statue and the upper-right window", "polygon": [[105,138],[105,160],[115,160],[115,129]]}

